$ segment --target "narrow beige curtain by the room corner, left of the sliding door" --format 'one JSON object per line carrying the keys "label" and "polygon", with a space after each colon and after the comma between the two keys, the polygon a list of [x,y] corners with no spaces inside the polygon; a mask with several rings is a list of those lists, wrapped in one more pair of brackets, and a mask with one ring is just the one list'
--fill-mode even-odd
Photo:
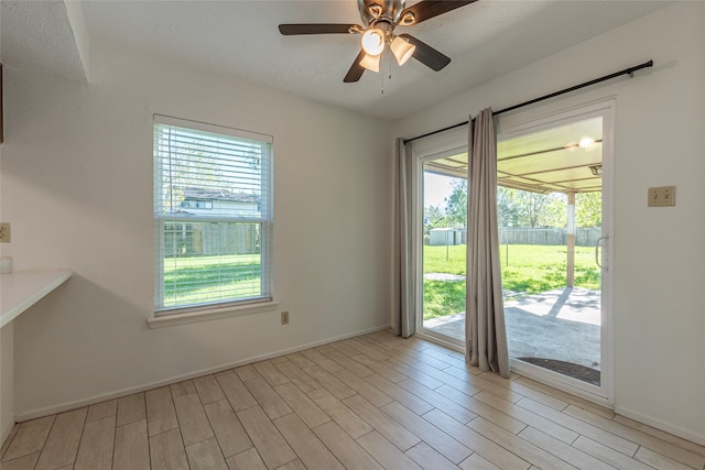
{"label": "narrow beige curtain by the room corner, left of the sliding door", "polygon": [[403,139],[395,145],[394,198],[394,329],[409,338],[416,332],[416,299],[411,243],[411,149]]}

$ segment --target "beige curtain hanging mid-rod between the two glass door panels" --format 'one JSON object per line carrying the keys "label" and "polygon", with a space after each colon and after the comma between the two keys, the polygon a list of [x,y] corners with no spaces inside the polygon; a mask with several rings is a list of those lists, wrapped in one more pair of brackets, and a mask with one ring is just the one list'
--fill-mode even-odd
{"label": "beige curtain hanging mid-rod between the two glass door panels", "polygon": [[490,108],[470,119],[468,138],[468,232],[466,361],[509,376],[497,228],[497,138]]}

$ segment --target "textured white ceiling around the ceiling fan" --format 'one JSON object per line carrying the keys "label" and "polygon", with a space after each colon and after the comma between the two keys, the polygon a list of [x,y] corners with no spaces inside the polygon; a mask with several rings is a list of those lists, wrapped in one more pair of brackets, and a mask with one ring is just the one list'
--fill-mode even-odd
{"label": "textured white ceiling around the ceiling fan", "polygon": [[[408,6],[415,2],[409,1]],[[30,13],[37,17],[24,18],[22,24],[8,26],[6,3],[26,10],[25,17]],[[19,8],[14,3],[23,6]],[[30,8],[24,3],[35,6]],[[387,78],[389,68],[386,67],[384,74],[366,72],[357,84],[344,84],[343,77],[359,52],[359,36],[282,36],[276,29],[279,23],[359,23],[356,0],[94,0],[83,2],[83,9],[91,40],[119,43],[205,70],[230,73],[317,101],[394,120],[666,3],[479,0],[403,29],[448,55],[453,62],[445,69],[433,72],[416,61],[403,67],[394,63],[391,80]],[[63,52],[56,51],[56,43],[64,40],[67,28],[65,12],[64,18],[55,15],[57,4],[63,7],[61,1],[2,0],[6,64],[53,67],[53,73],[75,75],[73,68],[78,57],[75,45],[73,50],[67,46]],[[9,21],[14,23],[18,17]],[[28,42],[33,45],[31,53]],[[383,95],[380,92],[382,78]]]}

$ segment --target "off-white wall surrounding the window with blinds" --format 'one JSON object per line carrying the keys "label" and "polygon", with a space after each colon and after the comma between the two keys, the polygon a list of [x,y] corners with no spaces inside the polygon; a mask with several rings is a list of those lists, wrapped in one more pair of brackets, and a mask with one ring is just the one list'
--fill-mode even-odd
{"label": "off-white wall surrounding the window with blinds", "polygon": [[[75,271],[15,320],[18,418],[389,327],[388,124],[106,44],[91,61],[89,86],[6,68],[15,270]],[[152,113],[274,136],[274,294],[289,326],[275,311],[148,328]]]}

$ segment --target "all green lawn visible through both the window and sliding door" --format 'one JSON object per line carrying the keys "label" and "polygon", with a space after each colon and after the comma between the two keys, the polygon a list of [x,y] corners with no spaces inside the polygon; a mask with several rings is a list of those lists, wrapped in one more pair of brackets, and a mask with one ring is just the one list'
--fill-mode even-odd
{"label": "all green lawn visible through both the window and sliding door", "polygon": [[[465,274],[465,245],[424,247],[424,273]],[[509,259],[509,262],[507,262]],[[257,296],[260,255],[171,258],[164,260],[164,306],[206,302],[216,295]],[[565,247],[500,247],[502,286],[535,294],[565,286]],[[575,285],[598,289],[599,269],[589,247],[575,249]],[[465,310],[465,281],[424,280],[424,319]]]}

